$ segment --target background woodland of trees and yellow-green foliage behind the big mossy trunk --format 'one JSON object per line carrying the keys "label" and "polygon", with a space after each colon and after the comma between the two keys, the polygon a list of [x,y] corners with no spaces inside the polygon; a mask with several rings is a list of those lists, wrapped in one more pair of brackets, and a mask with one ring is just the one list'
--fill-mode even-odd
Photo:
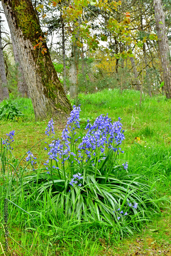
{"label": "background woodland of trees and yellow-green foliage behind the big mossy trunk", "polygon": [[[48,3],[33,1],[33,6],[46,33],[55,70],[71,98],[78,93],[87,94],[104,88],[119,88],[121,92],[124,89],[142,90],[150,97],[164,94],[153,1],[100,1],[85,4],[85,7],[78,1],[81,8],[75,7],[78,10],[75,16],[74,3]],[[169,1],[163,1],[165,31],[162,33],[167,34],[168,44],[170,8]],[[162,26],[162,22],[159,23]],[[5,83],[9,93],[16,97],[19,83],[24,83],[25,78],[18,68],[18,58],[15,56],[14,59],[10,33],[2,19],[1,34]],[[40,47],[39,42],[42,42],[41,38],[37,47]],[[19,93],[29,95],[27,90]]]}

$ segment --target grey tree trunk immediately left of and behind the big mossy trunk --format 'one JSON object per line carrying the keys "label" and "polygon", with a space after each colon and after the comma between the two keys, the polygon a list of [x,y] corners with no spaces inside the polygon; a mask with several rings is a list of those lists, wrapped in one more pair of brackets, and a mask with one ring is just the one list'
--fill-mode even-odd
{"label": "grey tree trunk immediately left of and behind the big mossy trunk", "polygon": [[17,84],[18,92],[20,93],[20,95],[22,95],[22,97],[27,97],[27,96],[29,96],[28,95],[28,87],[27,87],[27,83],[25,80],[22,66],[20,64],[18,51],[17,51],[17,48],[15,47],[14,39],[13,39],[12,35],[11,35],[11,41],[12,41],[12,48],[13,48],[15,63],[18,65],[18,67],[17,67],[18,73],[19,73],[19,79],[18,79],[18,84]]}

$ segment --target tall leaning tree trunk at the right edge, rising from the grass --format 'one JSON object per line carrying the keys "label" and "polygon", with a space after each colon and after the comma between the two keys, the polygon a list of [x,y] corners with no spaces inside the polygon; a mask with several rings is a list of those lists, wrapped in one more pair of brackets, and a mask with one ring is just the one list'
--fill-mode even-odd
{"label": "tall leaning tree trunk at the right edge, rising from the grass", "polygon": [[156,29],[158,35],[158,45],[161,56],[161,63],[163,69],[164,86],[166,97],[171,98],[171,67],[169,61],[169,45],[165,26],[165,16],[163,12],[161,0],[153,0]]}

